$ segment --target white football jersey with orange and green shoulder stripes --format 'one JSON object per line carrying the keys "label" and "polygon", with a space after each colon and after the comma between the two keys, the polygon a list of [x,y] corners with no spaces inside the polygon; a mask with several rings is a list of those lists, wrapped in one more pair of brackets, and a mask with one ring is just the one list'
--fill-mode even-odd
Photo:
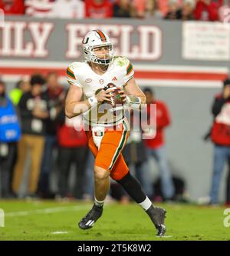
{"label": "white football jersey with orange and green shoulder stripes", "polygon": [[[103,75],[95,73],[87,62],[73,62],[67,68],[67,81],[70,85],[81,87],[86,99],[96,95],[109,83],[123,89],[133,74],[133,66],[127,58],[114,57]],[[123,111],[113,115],[113,112],[100,108],[100,105],[84,112],[84,121],[92,126],[119,125],[123,118]]]}

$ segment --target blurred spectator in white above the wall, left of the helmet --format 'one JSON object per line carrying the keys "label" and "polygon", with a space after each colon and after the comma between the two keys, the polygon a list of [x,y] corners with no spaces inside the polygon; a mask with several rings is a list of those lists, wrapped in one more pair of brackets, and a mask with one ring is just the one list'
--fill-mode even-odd
{"label": "blurred spectator in white above the wall, left of the helmet", "polygon": [[84,18],[84,2],[81,0],[55,0],[51,16],[53,18]]}

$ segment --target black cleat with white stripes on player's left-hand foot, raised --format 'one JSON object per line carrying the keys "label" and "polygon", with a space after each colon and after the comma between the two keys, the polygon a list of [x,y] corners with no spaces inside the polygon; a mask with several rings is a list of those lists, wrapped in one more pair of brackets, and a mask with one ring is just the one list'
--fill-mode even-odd
{"label": "black cleat with white stripes on player's left-hand foot, raised", "polygon": [[94,204],[93,208],[81,219],[78,223],[79,228],[89,229],[93,228],[95,222],[100,218],[103,212],[103,207],[98,207]]}

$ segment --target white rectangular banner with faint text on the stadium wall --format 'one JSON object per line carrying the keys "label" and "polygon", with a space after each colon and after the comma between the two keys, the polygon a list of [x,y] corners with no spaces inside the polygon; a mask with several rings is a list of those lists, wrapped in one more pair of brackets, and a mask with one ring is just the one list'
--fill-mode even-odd
{"label": "white rectangular banner with faint text on the stadium wall", "polygon": [[183,22],[182,58],[230,60],[230,25],[219,22]]}

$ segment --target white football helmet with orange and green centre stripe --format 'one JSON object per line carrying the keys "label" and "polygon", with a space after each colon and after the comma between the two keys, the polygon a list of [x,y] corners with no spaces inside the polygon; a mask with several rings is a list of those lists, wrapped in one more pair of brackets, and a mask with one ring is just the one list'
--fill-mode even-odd
{"label": "white football helmet with orange and green centre stripe", "polygon": [[[113,61],[113,44],[110,41],[108,35],[101,30],[92,30],[87,32],[87,35],[84,36],[82,40],[84,58],[87,62],[94,62],[102,65],[109,65]],[[98,57],[94,48],[109,46],[109,57],[104,55],[104,58]]]}

